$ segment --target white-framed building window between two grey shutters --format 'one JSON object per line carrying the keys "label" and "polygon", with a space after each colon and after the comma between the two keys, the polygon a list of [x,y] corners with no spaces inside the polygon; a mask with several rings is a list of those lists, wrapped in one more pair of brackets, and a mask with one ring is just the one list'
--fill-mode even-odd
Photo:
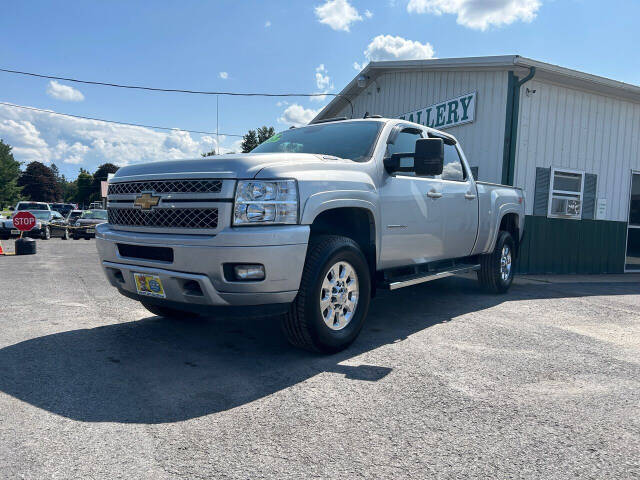
{"label": "white-framed building window between two grey shutters", "polygon": [[547,216],[580,220],[584,194],[584,172],[553,168],[551,169],[550,187]]}

